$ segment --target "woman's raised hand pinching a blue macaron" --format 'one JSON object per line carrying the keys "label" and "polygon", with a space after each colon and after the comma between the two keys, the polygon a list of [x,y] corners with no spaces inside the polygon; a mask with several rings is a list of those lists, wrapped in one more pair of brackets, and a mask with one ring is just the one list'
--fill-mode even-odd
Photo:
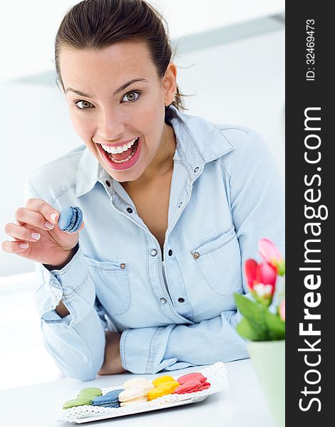
{"label": "woman's raised hand pinching a blue macaron", "polygon": [[29,199],[25,208],[16,210],[17,223],[6,223],[4,231],[14,241],[2,242],[2,248],[23,258],[61,268],[73,257],[79,231],[68,233],[58,227],[59,211],[41,199]]}

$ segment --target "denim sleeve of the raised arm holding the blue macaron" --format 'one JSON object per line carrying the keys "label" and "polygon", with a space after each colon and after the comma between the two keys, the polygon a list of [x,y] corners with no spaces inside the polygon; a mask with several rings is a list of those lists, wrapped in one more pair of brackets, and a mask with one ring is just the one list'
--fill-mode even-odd
{"label": "denim sleeve of the raised arm holding the blue macaron", "polygon": [[[103,364],[107,322],[81,248],[62,270],[48,271],[41,264],[36,270],[35,299],[46,349],[66,376],[94,379]],[[55,310],[60,301],[69,312],[63,318]]]}

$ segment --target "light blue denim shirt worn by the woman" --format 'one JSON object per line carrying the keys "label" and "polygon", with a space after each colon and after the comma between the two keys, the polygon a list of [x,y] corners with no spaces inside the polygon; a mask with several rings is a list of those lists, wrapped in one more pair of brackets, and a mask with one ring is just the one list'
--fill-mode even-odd
{"label": "light blue denim shirt worn by the woman", "polygon": [[234,292],[248,292],[242,265],[259,259],[260,238],[284,253],[282,182],[256,132],[172,106],[169,117],[177,147],[163,258],[123,186],[84,146],[26,181],[27,198],[83,211],[73,259],[52,271],[35,263],[44,341],[67,376],[96,376],[105,330],[122,332],[121,361],[135,374],[248,357]]}

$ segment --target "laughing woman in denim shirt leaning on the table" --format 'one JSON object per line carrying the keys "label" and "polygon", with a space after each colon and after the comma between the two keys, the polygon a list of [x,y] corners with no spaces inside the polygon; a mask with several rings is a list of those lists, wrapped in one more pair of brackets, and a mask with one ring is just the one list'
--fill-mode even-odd
{"label": "laughing woman in denim shirt leaning on the table", "polygon": [[[260,238],[283,251],[284,200],[262,138],[180,112],[161,17],[87,0],[56,36],[85,146],[27,180],[3,248],[36,263],[48,351],[68,376],[157,373],[248,357],[234,292]],[[58,228],[80,206],[85,226]]]}

